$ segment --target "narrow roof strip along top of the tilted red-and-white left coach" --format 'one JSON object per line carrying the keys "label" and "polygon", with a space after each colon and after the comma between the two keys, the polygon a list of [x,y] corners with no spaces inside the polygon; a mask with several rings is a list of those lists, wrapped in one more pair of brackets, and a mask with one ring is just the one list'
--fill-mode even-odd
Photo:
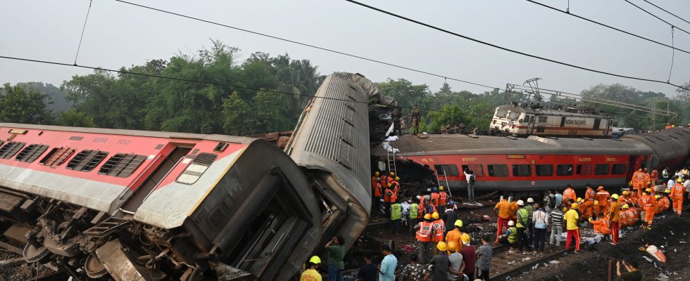
{"label": "narrow roof strip along top of the tilted red-and-white left coach", "polygon": [[81,128],[68,126],[49,126],[49,125],[32,125],[32,124],[16,124],[16,123],[0,123],[0,129],[33,129],[44,131],[69,131],[75,133],[103,133],[120,136],[146,136],[153,138],[181,138],[181,139],[196,139],[209,141],[225,141],[230,143],[251,143],[256,141],[256,138],[247,138],[242,136],[226,136],[226,135],[204,135],[201,133],[175,133],[165,131],[139,131],[139,130],[123,130],[123,129],[101,129],[101,128]]}

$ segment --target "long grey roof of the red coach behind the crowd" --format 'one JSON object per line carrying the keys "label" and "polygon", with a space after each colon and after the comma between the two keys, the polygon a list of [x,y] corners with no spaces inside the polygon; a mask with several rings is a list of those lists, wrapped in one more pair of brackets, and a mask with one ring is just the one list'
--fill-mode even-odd
{"label": "long grey roof of the red coach behind the crowd", "polygon": [[[406,155],[438,154],[504,154],[504,153],[550,153],[550,154],[631,154],[644,153],[632,143],[610,139],[584,138],[505,138],[498,136],[468,135],[427,135],[420,138],[412,135],[401,136],[391,142],[393,148]],[[381,146],[372,150],[374,155],[386,155]]]}

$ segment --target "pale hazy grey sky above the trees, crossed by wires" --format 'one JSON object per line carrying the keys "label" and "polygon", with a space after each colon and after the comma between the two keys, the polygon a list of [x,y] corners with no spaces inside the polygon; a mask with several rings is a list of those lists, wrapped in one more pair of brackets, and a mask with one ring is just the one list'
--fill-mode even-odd
{"label": "pale hazy grey sky above the trees, crossed by wires", "polygon": [[[405,22],[340,0],[301,1],[163,1],[138,4],[192,15],[338,51],[375,58],[458,79],[504,89],[540,77],[540,86],[579,92],[596,84],[622,83],[643,91],[675,94],[665,84],[584,72]],[[690,31],[690,24],[641,0],[631,0],[661,18]],[[690,1],[650,0],[690,19]],[[671,49],[620,32],[549,11],[522,0],[365,1],[364,3],[443,27],[469,37],[565,63],[607,72],[666,81]],[[567,0],[541,0],[563,8]],[[570,11],[644,37],[671,42],[671,28],[622,0],[571,1]],[[0,9],[0,55],[73,63],[87,0],[4,0]],[[443,79],[370,63],[175,15],[144,10],[113,0],[94,0],[84,34],[80,65],[118,68],[146,60],[193,53],[218,39],[242,50],[242,58],[263,51],[307,58],[322,74],[359,72],[374,81],[403,77],[437,91]],[[675,32],[675,46],[690,51],[690,34]],[[676,51],[671,81],[690,79],[690,54]],[[76,67],[0,59],[0,82],[44,81],[58,86]],[[454,90],[486,89],[449,81]]]}

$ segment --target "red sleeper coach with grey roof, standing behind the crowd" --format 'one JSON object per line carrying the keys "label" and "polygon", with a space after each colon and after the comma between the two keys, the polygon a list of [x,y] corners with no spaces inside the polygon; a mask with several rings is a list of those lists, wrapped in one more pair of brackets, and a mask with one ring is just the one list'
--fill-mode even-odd
{"label": "red sleeper coach with grey roof, standing behind the crowd", "polygon": [[[467,188],[463,171],[472,170],[477,190],[546,190],[586,183],[605,187],[627,185],[639,168],[677,167],[690,152],[690,130],[625,136],[621,140],[592,138],[528,138],[427,135],[401,136],[391,143],[396,157],[433,169],[441,184]],[[375,148],[383,155],[383,148]],[[403,175],[404,176],[404,175]]]}

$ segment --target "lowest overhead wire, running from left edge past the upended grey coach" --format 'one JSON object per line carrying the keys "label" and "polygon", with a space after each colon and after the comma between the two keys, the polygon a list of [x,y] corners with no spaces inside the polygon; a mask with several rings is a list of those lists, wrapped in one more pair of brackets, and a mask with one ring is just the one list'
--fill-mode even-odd
{"label": "lowest overhead wire, running from left edge past the upended grey coach", "polygon": [[[61,65],[61,66],[69,66],[69,67],[80,67],[80,68],[86,68],[90,70],[103,70],[103,71],[108,71],[108,72],[116,72],[120,74],[132,74],[132,75],[139,75],[139,76],[144,76],[144,77],[153,77],[153,78],[161,78],[161,79],[170,79],[170,80],[176,80],[176,81],[185,81],[185,82],[190,82],[190,83],[196,83],[196,84],[206,84],[206,85],[213,85],[213,86],[222,86],[222,87],[227,87],[230,89],[243,89],[243,90],[251,90],[251,91],[264,91],[268,93],[281,93],[285,95],[291,95],[291,96],[303,96],[307,98],[322,98],[325,100],[338,100],[338,101],[345,101],[345,102],[353,102],[353,103],[365,103],[368,104],[368,102],[365,101],[356,101],[356,100],[346,100],[342,98],[329,98],[329,97],[321,97],[321,96],[310,96],[306,94],[301,94],[301,93],[289,93],[289,92],[284,92],[284,91],[275,91],[275,90],[269,90],[269,89],[256,89],[256,88],[251,88],[251,87],[246,87],[246,86],[237,86],[237,85],[232,85],[232,84],[222,84],[222,83],[216,83],[216,82],[211,82],[211,81],[200,81],[200,80],[194,80],[194,79],[184,79],[184,78],[177,78],[177,77],[168,77],[168,76],[163,76],[163,75],[156,75],[156,74],[148,74],[148,73],[140,73],[140,72],[131,72],[127,70],[112,70],[108,68],[103,68],[103,67],[93,67],[93,66],[88,66],[88,65],[74,65],[74,64],[69,64],[69,63],[58,63],[54,61],[49,61],[49,60],[35,60],[35,59],[30,59],[30,58],[18,58],[18,57],[11,57],[11,56],[6,56],[6,55],[0,55],[0,58],[4,58],[7,60],[20,60],[20,61],[25,61],[25,62],[32,62],[32,63],[44,63],[44,64],[49,64],[49,65]],[[406,106],[399,106],[401,108],[406,108],[406,109],[412,109],[413,107],[406,107]],[[458,113],[458,112],[449,112],[449,111],[444,111],[444,110],[432,110],[428,108],[419,108],[418,110],[424,110],[424,111],[434,111],[434,112],[446,112],[446,113]],[[489,118],[491,119],[492,117],[487,117],[487,116],[481,116],[481,115],[472,115],[469,113],[465,112],[460,112],[460,115],[466,115],[466,116],[471,116],[471,117],[479,117],[479,118]]]}

